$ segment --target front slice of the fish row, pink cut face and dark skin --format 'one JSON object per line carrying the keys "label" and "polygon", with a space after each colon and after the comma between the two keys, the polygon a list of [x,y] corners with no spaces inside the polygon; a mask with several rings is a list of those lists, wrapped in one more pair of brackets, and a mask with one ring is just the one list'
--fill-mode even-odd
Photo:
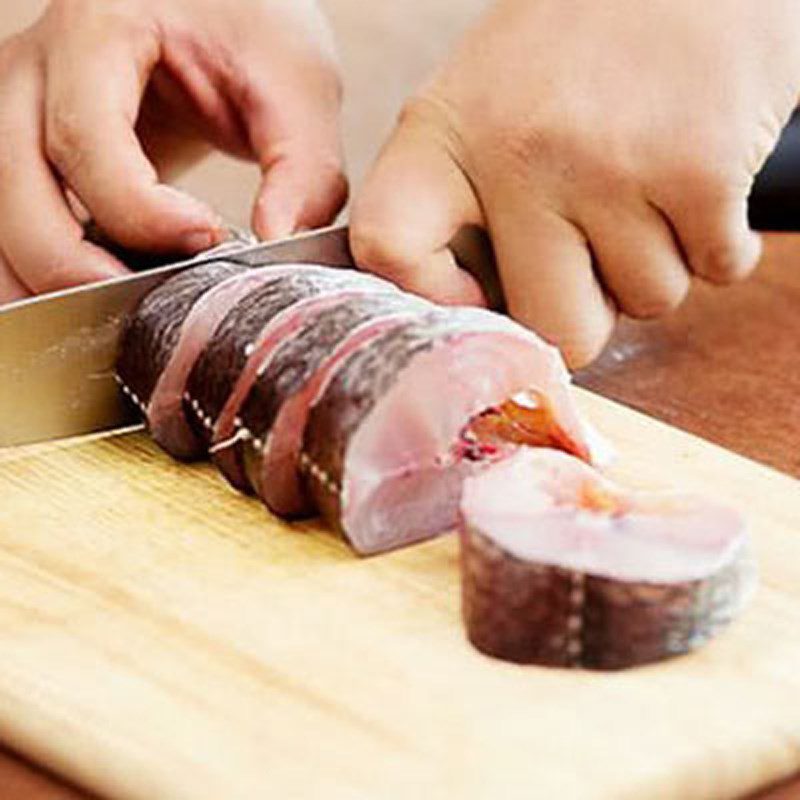
{"label": "front slice of the fish row, pink cut face and dark skin", "polygon": [[481,411],[535,389],[588,457],[568,383],[554,348],[483,309],[395,326],[354,353],[311,410],[303,468],[316,505],[363,554],[451,530],[461,482],[479,465],[459,437]]}

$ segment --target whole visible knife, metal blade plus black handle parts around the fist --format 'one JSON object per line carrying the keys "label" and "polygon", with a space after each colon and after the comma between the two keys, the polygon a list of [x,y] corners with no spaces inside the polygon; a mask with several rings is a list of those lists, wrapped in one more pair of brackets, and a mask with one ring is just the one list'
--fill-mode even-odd
{"label": "whole visible knife, metal blade plus black handle parts around the fist", "polygon": [[[756,179],[750,222],[758,230],[800,230],[800,118],[787,126]],[[502,307],[485,234],[465,228],[451,248],[483,284],[490,305]],[[0,308],[0,448],[136,423],[114,380],[126,316],[161,281],[218,259],[258,268],[287,262],[354,266],[347,228],[338,226],[277,242],[234,242],[195,258]]]}

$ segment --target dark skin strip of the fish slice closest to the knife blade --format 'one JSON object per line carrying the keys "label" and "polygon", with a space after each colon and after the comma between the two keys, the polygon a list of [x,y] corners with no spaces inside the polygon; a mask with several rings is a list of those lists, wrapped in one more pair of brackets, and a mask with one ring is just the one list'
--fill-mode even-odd
{"label": "dark skin strip of the fish slice closest to the knife blade", "polygon": [[185,270],[149,292],[130,316],[120,339],[117,375],[146,407],[180,338],[183,322],[210,289],[247,267],[226,261]]}

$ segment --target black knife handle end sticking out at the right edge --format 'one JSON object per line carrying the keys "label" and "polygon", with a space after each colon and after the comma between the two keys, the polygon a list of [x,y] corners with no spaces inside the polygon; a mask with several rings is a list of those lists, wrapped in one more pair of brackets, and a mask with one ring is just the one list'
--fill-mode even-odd
{"label": "black knife handle end sticking out at the right edge", "polygon": [[756,176],[749,212],[757,231],[800,231],[800,113]]}

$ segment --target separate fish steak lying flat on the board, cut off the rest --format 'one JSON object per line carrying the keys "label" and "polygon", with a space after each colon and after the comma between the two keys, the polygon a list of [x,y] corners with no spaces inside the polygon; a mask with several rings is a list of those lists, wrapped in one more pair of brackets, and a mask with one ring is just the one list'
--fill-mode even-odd
{"label": "separate fish steak lying flat on the board, cut off the rest", "polygon": [[621,669],[686,653],[755,586],[735,510],[626,492],[546,448],[520,448],[465,481],[460,546],[470,641],[523,664]]}

